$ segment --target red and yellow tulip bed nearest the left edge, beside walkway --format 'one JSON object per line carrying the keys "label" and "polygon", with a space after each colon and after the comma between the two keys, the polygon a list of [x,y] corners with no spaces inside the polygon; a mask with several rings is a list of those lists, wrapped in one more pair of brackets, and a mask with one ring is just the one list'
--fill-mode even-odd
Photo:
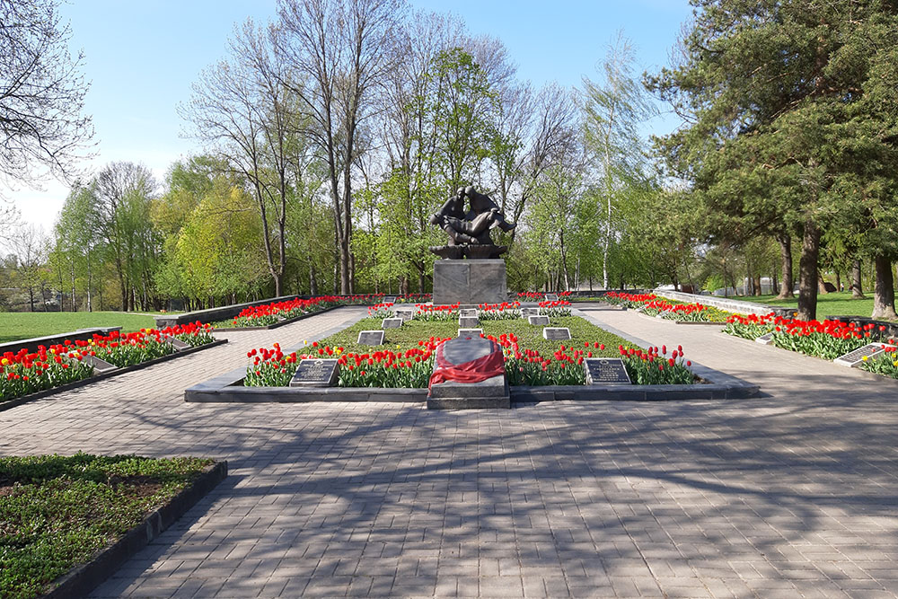
{"label": "red and yellow tulip bed nearest the left edge, beside walkway", "polygon": [[163,330],[141,329],[132,333],[113,330],[109,335],[94,335],[90,340],[66,340],[38,351],[26,348],[8,351],[0,357],[0,402],[31,393],[53,389],[86,379],[93,374],[84,357],[96,356],[119,367],[134,366],[174,351],[169,338],[186,341],[194,347],[213,342],[212,328],[198,322]]}

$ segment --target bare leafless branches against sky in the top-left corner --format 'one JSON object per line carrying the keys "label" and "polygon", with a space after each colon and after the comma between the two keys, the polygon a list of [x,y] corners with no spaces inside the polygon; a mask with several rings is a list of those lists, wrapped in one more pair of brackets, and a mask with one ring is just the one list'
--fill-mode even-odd
{"label": "bare leafless branches against sky in the top-left corner", "polygon": [[59,0],[0,0],[0,178],[34,183],[34,166],[69,177],[93,135],[82,115],[84,59],[68,52]]}

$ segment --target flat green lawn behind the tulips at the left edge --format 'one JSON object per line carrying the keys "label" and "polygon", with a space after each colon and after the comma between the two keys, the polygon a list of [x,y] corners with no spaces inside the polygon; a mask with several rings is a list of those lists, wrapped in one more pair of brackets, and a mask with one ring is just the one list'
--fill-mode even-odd
{"label": "flat green lawn behind the tulips at the left edge", "polygon": [[0,343],[92,327],[121,327],[129,331],[154,326],[152,316],[125,312],[4,312],[0,313]]}

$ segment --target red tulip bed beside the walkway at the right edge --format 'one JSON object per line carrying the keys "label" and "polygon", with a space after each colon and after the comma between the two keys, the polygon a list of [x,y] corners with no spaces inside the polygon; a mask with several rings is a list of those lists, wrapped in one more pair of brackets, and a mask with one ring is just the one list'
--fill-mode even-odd
{"label": "red tulip bed beside the walkway at the right edge", "polygon": [[802,354],[832,360],[861,348],[867,343],[894,343],[885,326],[872,323],[858,326],[854,322],[800,321],[774,313],[764,316],[729,317],[724,332],[744,339],[757,339],[772,332],[773,345]]}

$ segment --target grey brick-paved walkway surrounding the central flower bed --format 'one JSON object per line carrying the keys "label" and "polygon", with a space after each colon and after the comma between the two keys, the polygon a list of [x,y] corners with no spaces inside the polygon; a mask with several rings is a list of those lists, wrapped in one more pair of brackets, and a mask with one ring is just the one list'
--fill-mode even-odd
{"label": "grey brick-paved walkway surrounding the central flower bed", "polygon": [[898,594],[898,384],[634,313],[630,335],[760,383],[743,401],[187,404],[364,308],[0,412],[0,454],[225,458],[96,596]]}

